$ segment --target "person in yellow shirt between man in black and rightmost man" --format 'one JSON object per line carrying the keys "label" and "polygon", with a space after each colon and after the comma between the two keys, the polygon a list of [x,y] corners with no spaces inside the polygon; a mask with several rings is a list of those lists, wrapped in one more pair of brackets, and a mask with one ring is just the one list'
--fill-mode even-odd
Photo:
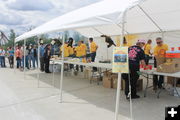
{"label": "person in yellow shirt between man in black and rightmost man", "polygon": [[144,53],[145,53],[145,62],[146,62],[146,65],[149,64],[149,59],[150,59],[150,56],[152,55],[151,53],[151,49],[152,49],[152,40],[148,40],[147,44],[144,46]]}

